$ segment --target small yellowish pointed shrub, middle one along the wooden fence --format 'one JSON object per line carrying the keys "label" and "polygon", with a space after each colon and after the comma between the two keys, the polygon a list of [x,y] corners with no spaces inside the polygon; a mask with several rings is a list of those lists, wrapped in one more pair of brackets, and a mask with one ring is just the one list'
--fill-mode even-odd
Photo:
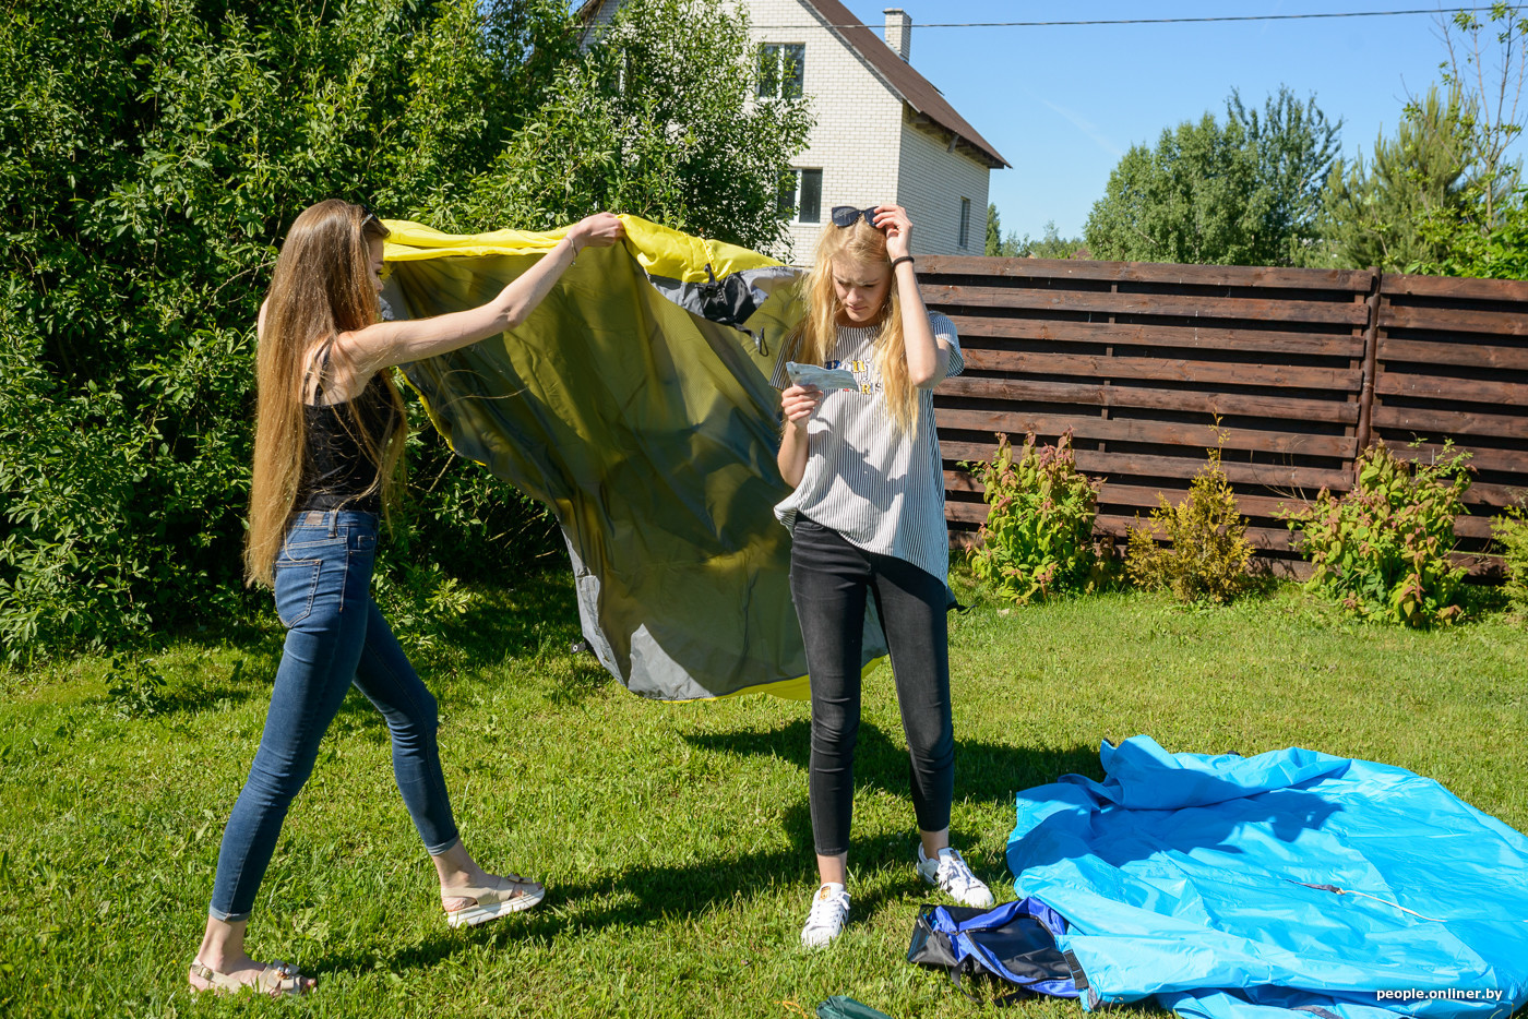
{"label": "small yellowish pointed shrub, middle one along the wooden fence", "polygon": [[[1180,602],[1225,603],[1247,590],[1251,542],[1247,518],[1236,509],[1236,493],[1221,469],[1219,446],[1189,483],[1183,501],[1174,506],[1157,495],[1160,506],[1151,524],[1137,521],[1129,530],[1125,570],[1144,590],[1169,590]],[[1169,544],[1157,542],[1161,533]]]}

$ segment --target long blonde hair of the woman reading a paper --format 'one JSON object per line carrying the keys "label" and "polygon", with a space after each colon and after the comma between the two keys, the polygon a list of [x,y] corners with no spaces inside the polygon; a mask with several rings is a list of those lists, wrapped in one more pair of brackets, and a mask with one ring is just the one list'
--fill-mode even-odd
{"label": "long blonde hair of the woman reading a paper", "polygon": [[[839,335],[837,318],[843,307],[833,289],[833,263],[853,266],[889,266],[886,235],[868,220],[853,226],[827,226],[817,241],[816,261],[802,280],[807,315],[796,327],[796,361],[825,364]],[[886,301],[880,309],[880,332],[876,336],[876,368],[885,387],[882,394],[891,422],[900,432],[911,432],[918,423],[918,388],[908,377],[908,348],[902,332],[902,301],[897,299],[895,278],[886,283]]]}

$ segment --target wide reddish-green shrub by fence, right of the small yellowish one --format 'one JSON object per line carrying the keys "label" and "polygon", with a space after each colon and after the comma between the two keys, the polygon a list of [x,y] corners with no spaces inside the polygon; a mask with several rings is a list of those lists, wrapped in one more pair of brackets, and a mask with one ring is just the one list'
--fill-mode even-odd
{"label": "wide reddish-green shrub by fence, right of the small yellowish one", "polygon": [[1384,445],[1358,457],[1358,484],[1284,513],[1316,571],[1308,587],[1366,619],[1407,626],[1456,622],[1464,567],[1449,553],[1453,519],[1470,490],[1468,454],[1444,445],[1432,463],[1401,460]]}

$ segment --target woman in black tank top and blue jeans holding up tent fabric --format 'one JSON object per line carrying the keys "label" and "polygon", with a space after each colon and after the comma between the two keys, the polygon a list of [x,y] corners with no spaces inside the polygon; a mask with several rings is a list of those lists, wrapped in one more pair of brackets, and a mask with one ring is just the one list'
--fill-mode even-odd
{"label": "woman in black tank top and blue jeans holding up tent fabric", "polygon": [[608,212],[591,215],[487,304],[396,322],[382,321],[377,296],[387,234],[348,202],[306,209],[281,244],[260,309],[244,567],[251,582],[274,588],[287,636],[260,749],[223,831],[206,933],[191,964],[196,990],[313,987],[290,964],[251,959],[244,927],[287,807],[351,684],[387,718],[394,778],[435,865],[448,923],[494,920],[545,894],[468,856],[435,749],[435,698],[370,594],[379,515],[394,498],[405,434],[388,368],[513,328],[581,247],[608,247],[623,228]]}

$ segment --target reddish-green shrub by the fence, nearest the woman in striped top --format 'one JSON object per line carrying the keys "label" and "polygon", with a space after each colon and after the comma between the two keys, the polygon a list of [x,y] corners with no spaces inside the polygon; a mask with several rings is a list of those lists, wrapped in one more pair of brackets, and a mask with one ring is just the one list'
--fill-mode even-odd
{"label": "reddish-green shrub by the fence, nearest the woman in striped top", "polygon": [[998,435],[992,461],[963,466],[981,481],[989,507],[970,552],[972,573],[1019,605],[1099,585],[1093,519],[1103,480],[1077,471],[1070,431],[1054,446],[1027,435],[1016,458],[1008,437]]}

